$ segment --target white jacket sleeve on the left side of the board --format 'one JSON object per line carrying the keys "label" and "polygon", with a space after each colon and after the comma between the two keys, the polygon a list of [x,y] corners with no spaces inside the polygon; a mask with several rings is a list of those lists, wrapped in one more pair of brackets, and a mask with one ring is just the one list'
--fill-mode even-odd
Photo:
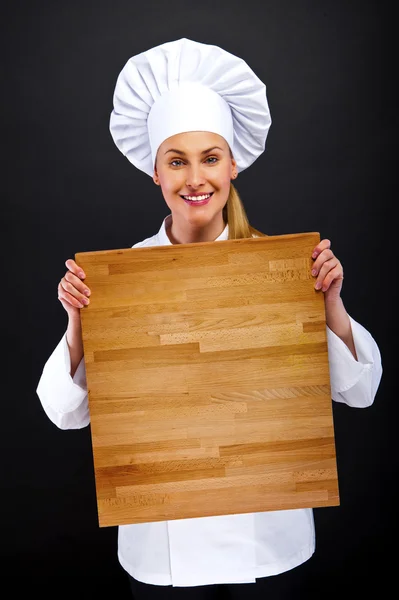
{"label": "white jacket sleeve on the left side of the board", "polygon": [[43,367],[36,393],[49,419],[60,429],[81,429],[90,422],[86,369],[82,358],[73,378],[66,333]]}

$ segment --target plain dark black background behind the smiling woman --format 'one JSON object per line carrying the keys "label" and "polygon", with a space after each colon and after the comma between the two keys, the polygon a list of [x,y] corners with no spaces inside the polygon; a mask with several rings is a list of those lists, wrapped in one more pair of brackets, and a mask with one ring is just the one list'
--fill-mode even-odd
{"label": "plain dark black background behind the smiling woman", "polygon": [[315,510],[317,550],[302,577],[306,598],[382,592],[395,568],[398,474],[391,4],[24,0],[2,14],[0,569],[16,586],[7,597],[129,597],[117,529],[98,527],[90,428],[57,429],[36,386],[66,327],[65,260],[130,247],[168,212],[108,126],[128,58],[180,37],[241,56],[266,83],[266,152],[236,181],[249,219],[269,234],[330,238],[347,310],[380,346],[374,405],[334,404],[341,505]]}

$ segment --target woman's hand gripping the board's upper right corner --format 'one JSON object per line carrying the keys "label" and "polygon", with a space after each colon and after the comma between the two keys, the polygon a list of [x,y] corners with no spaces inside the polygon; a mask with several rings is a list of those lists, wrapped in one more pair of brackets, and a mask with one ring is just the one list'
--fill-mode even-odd
{"label": "woman's hand gripping the board's upper right corner", "polygon": [[312,275],[316,277],[315,289],[322,290],[326,301],[340,298],[344,270],[331,250],[330,240],[321,240],[312,253]]}

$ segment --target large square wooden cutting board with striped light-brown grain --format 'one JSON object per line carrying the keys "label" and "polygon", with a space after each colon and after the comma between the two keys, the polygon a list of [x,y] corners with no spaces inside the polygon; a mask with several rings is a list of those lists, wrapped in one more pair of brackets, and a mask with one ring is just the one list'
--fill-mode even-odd
{"label": "large square wooden cutting board with striped light-brown grain", "polygon": [[100,527],[339,504],[319,240],[76,254]]}

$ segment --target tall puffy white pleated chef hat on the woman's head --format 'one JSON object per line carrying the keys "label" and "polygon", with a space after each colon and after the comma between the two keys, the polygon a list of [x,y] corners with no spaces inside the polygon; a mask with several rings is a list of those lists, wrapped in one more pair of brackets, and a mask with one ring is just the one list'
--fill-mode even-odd
{"label": "tall puffy white pleated chef hat on the woman's head", "polygon": [[186,38],[127,61],[110,117],[116,146],[151,177],[162,142],[186,131],[221,135],[243,171],[264,151],[270,125],[266,86],[247,63]]}

